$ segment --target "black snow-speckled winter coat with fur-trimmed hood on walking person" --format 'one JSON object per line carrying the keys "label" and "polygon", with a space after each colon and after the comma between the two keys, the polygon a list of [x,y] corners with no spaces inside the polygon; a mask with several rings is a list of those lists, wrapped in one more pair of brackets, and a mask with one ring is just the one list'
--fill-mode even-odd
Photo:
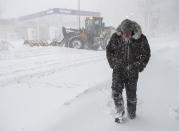
{"label": "black snow-speckled winter coat with fur-trimmed hood on walking person", "polygon": [[123,73],[131,70],[136,73],[143,71],[150,58],[150,47],[146,36],[142,34],[136,22],[131,22],[133,35],[130,42],[126,43],[122,37],[122,23],[106,47],[110,67]]}

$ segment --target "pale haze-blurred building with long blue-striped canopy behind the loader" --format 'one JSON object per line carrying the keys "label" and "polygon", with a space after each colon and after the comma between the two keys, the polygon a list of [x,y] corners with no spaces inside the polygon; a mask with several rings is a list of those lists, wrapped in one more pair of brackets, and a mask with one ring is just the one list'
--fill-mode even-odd
{"label": "pale haze-blurred building with long blue-striped canopy behind the loader", "polygon": [[54,40],[62,39],[62,27],[84,26],[86,17],[99,17],[99,12],[54,8],[17,19],[0,20],[0,39]]}

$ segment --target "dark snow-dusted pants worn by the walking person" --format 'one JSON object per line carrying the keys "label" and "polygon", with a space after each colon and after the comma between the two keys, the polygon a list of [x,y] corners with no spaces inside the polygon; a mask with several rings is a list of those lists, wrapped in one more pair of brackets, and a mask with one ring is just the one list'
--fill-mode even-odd
{"label": "dark snow-dusted pants worn by the walking person", "polygon": [[136,113],[138,74],[138,72],[128,74],[121,70],[113,70],[112,97],[118,113],[124,112],[124,100],[122,96],[124,88],[127,96],[127,111],[129,114]]}

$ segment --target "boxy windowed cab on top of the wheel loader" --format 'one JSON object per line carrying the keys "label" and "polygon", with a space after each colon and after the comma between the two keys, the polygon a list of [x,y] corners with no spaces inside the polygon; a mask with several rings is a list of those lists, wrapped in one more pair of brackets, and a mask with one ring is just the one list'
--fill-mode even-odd
{"label": "boxy windowed cab on top of the wheel loader", "polygon": [[87,17],[85,20],[85,29],[87,33],[94,36],[99,36],[104,26],[102,20],[102,17]]}

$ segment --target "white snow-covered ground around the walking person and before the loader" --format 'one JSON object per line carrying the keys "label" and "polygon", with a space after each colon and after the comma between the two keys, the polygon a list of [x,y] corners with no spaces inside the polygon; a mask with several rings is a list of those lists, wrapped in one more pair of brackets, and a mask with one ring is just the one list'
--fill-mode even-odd
{"label": "white snow-covered ground around the walking person and before the loader", "polygon": [[0,130],[178,131],[179,40],[149,42],[152,57],[138,82],[137,118],[121,125],[113,120],[105,51],[31,48],[22,41],[1,50]]}

